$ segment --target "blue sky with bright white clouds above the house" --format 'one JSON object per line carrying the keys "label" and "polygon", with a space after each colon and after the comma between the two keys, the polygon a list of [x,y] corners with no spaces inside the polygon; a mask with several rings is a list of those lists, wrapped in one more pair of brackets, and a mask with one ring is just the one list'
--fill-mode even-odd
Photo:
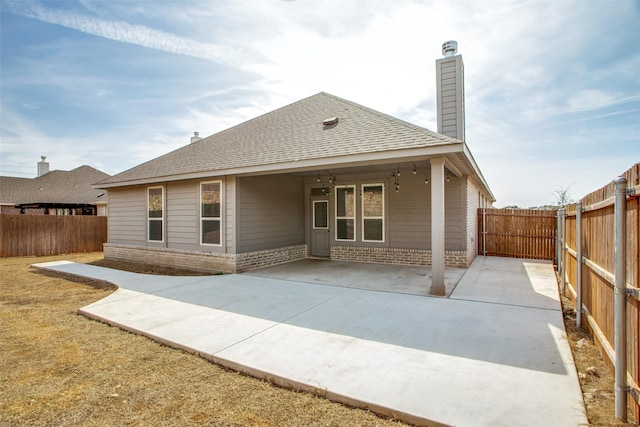
{"label": "blue sky with bright white clouds above the house", "polygon": [[640,1],[0,0],[0,175],[116,174],[324,91],[437,130],[458,42],[496,207],[640,162]]}

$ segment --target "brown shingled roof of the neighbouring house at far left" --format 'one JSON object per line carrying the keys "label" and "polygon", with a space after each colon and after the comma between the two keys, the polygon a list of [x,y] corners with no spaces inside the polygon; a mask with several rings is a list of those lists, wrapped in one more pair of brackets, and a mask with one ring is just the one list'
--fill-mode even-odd
{"label": "brown shingled roof of the neighbouring house at far left", "polygon": [[[108,177],[108,174],[86,165],[71,171],[54,170],[37,178],[0,176],[0,203],[106,203],[105,192],[94,189],[91,185]],[[103,195],[98,197],[101,193]]]}

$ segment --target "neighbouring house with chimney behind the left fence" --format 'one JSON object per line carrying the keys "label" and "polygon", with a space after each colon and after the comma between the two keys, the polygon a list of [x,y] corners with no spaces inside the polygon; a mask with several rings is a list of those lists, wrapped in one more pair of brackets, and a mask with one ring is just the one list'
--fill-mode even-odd
{"label": "neighbouring house with chimney behind the left fence", "polygon": [[106,215],[106,191],[92,184],[109,175],[91,166],[49,171],[38,162],[36,178],[0,177],[0,213],[44,215]]}

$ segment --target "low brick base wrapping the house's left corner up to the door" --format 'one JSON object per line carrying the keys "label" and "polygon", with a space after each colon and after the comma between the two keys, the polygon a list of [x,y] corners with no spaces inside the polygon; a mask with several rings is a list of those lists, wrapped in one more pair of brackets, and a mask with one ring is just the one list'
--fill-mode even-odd
{"label": "low brick base wrapping the house's left corner up to the door", "polygon": [[165,267],[178,267],[206,273],[239,273],[303,259],[306,258],[306,256],[307,245],[289,246],[243,254],[219,254],[167,248],[145,248],[114,243],[105,243],[104,245],[105,259],[140,262]]}

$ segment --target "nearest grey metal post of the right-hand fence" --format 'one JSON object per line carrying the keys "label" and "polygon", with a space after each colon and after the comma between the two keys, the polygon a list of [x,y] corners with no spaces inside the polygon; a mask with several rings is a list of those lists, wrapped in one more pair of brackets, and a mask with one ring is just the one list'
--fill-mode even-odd
{"label": "nearest grey metal post of the right-hand fence", "polygon": [[627,180],[615,179],[614,348],[616,418],[627,421]]}

